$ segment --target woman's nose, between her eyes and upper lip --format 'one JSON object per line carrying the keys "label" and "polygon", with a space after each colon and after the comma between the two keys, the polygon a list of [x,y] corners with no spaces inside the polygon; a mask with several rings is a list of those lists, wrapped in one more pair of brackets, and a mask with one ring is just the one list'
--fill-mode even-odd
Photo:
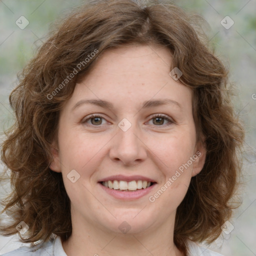
{"label": "woman's nose, between her eyes and upper lip", "polygon": [[135,165],[147,157],[145,142],[141,132],[132,124],[126,131],[117,127],[117,134],[111,141],[109,157],[113,161],[122,162],[124,165]]}

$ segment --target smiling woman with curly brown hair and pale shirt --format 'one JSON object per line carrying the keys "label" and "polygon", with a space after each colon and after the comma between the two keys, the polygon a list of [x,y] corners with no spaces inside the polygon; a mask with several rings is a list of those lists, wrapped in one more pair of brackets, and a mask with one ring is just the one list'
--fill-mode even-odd
{"label": "smiling woman with curly brown hair and pale shirt", "polygon": [[[219,255],[243,130],[227,70],[177,6],[92,1],[24,69],[4,255]],[[208,253],[208,254],[207,254]]]}

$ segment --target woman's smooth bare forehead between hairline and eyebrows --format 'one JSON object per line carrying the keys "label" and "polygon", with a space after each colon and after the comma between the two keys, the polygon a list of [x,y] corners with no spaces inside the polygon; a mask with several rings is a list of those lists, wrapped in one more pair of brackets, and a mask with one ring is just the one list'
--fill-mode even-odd
{"label": "woman's smooth bare forehead between hairline and eyebrows", "polygon": [[71,103],[106,99],[119,107],[169,98],[189,107],[191,89],[172,79],[171,53],[161,45],[124,45],[105,50],[76,84]]}

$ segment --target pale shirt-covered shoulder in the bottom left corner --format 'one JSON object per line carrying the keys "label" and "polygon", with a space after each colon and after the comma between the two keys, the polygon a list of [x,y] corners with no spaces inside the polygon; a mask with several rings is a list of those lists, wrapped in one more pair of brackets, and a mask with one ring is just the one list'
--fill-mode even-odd
{"label": "pale shirt-covered shoulder in the bottom left corner", "polygon": [[[60,251],[60,253],[58,253]],[[21,246],[15,250],[4,253],[2,256],[66,256],[63,254],[60,237],[51,237],[46,242],[41,242],[35,246]],[[62,253],[61,253],[62,252]]]}

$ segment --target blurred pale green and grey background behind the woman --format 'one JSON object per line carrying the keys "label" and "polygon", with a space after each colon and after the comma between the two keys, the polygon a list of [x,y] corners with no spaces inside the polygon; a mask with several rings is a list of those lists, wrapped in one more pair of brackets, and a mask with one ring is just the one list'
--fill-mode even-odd
{"label": "blurred pale green and grey background behind the woman", "polygon": [[[16,74],[45,40],[49,26],[64,17],[82,0],[0,0],[0,139],[2,130],[12,121],[8,95],[16,83]],[[240,189],[242,205],[230,220],[234,229],[223,233],[215,250],[226,256],[256,255],[256,1],[255,0],[174,0],[191,15],[199,14],[207,22],[202,28],[215,53],[229,67],[230,82],[236,84],[233,102],[236,114],[244,122],[243,174]],[[229,16],[234,24],[226,29],[221,20]],[[15,21],[24,16],[29,24],[19,28]],[[225,20],[225,19],[224,19]],[[226,22],[226,21],[222,21]],[[229,21],[228,21],[229,22]],[[23,21],[24,24],[24,21]],[[49,52],[50,54],[50,52]],[[253,96],[254,95],[254,96]],[[2,191],[0,190],[2,193]],[[0,254],[20,246],[17,237],[0,236]],[[215,247],[214,247],[215,246]]]}

